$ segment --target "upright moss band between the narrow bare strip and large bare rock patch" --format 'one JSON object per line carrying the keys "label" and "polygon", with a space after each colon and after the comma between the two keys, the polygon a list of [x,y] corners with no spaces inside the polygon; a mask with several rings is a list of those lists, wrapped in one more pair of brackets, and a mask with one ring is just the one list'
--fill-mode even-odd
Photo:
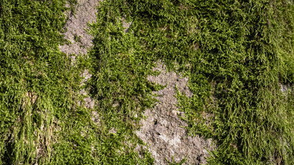
{"label": "upright moss band between the narrow bare strip and large bare rock patch", "polygon": [[[132,33],[125,33],[117,11],[117,3],[104,1],[97,8],[97,23],[90,25],[94,36],[90,54],[92,78],[88,88],[97,100],[95,111],[101,117],[101,164],[152,164],[153,158],[146,150],[135,152],[144,145],[135,135],[146,108],[153,107],[151,91],[160,89],[148,82],[155,66],[142,54],[139,40]],[[152,57],[150,57],[152,58]],[[98,149],[97,149],[98,151]]]}

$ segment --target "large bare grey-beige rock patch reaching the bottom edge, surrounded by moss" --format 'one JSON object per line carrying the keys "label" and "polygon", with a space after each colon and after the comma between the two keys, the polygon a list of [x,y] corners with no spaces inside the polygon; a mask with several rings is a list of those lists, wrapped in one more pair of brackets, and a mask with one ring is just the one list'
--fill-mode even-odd
{"label": "large bare grey-beige rock patch reaching the bottom edge, surrounded by moss", "polygon": [[[181,78],[175,72],[166,72],[164,64],[158,63],[155,68],[161,71],[159,76],[148,76],[148,80],[166,88],[155,92],[159,96],[157,105],[154,109],[145,112],[148,118],[141,121],[141,129],[137,131],[137,136],[150,146],[149,151],[155,157],[155,164],[168,164],[168,162],[181,162],[186,157],[184,164],[206,164],[208,150],[211,140],[204,140],[202,137],[189,137],[185,122],[177,116],[177,98],[175,98],[177,85],[179,91],[186,96],[192,96],[187,87],[188,78]],[[168,161],[166,161],[166,159]]]}

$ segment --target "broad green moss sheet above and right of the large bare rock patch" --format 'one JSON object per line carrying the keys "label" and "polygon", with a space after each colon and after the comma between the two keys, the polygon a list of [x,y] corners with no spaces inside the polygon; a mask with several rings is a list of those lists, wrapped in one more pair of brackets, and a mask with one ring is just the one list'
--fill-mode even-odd
{"label": "broad green moss sheet above and right of the large bare rock patch", "polygon": [[[135,36],[139,59],[145,63],[161,59],[170,69],[175,69],[175,61],[179,63],[179,71],[190,77],[194,94],[192,98],[178,94],[187,129],[190,135],[217,142],[210,164],[293,164],[293,97],[281,91],[281,85],[293,85],[294,80],[293,1],[121,0],[106,4],[111,8],[101,12],[107,14],[98,21],[100,27],[108,28],[98,27],[103,35],[95,43],[101,46],[95,56],[99,66],[112,67],[110,61],[121,59],[117,45],[126,42],[124,36]],[[133,22],[128,34],[115,25],[121,15]],[[130,51],[133,46],[125,48]],[[115,70],[102,73],[108,72],[111,78]]]}

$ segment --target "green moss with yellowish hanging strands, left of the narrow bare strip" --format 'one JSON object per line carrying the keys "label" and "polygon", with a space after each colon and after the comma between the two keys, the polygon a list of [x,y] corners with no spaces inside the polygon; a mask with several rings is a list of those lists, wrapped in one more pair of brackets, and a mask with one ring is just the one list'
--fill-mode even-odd
{"label": "green moss with yellowish hanging strands, left of the narrow bare strip", "polygon": [[59,51],[65,3],[0,1],[0,164],[55,164],[59,142],[75,151],[65,130],[79,129],[77,113],[86,113],[73,106],[83,64]]}

